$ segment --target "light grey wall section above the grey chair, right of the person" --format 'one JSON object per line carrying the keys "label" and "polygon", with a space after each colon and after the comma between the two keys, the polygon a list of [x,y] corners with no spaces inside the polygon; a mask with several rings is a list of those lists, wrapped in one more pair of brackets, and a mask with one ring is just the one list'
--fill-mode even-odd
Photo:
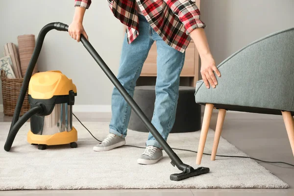
{"label": "light grey wall section above the grey chair, right of the person", "polygon": [[216,64],[245,45],[294,27],[294,0],[201,0],[201,19]]}

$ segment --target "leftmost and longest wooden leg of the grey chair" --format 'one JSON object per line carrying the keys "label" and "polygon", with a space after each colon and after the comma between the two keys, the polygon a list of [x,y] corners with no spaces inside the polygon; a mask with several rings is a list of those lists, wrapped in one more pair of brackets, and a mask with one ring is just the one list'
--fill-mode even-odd
{"label": "leftmost and longest wooden leg of the grey chair", "polygon": [[210,123],[211,115],[212,115],[212,111],[213,111],[213,106],[214,105],[210,104],[210,103],[206,103],[206,105],[205,105],[204,117],[203,117],[203,121],[202,121],[202,128],[201,128],[201,134],[200,134],[200,140],[199,140],[199,146],[198,146],[198,153],[197,153],[197,157],[196,157],[196,164],[197,165],[200,165],[200,163],[201,163],[203,150],[204,150],[204,146],[205,146],[205,141],[206,141],[207,133],[208,133],[208,129],[209,129],[209,123]]}

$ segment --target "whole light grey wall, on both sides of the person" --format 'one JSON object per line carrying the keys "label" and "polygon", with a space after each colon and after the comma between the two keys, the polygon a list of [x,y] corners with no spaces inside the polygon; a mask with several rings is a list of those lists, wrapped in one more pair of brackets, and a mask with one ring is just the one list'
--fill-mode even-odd
{"label": "whole light grey wall, on both sides of the person", "polygon": [[[0,53],[5,43],[17,44],[18,35],[35,34],[37,37],[39,30],[48,23],[70,24],[73,3],[74,0],[1,2]],[[201,19],[207,25],[208,42],[216,63],[256,39],[294,27],[293,8],[294,0],[201,0]],[[86,11],[84,26],[94,48],[117,74],[123,25],[112,15],[107,0],[92,2]],[[109,110],[112,83],[82,44],[76,43],[66,32],[49,32],[38,67],[40,71],[60,70],[73,78],[78,91],[76,105],[104,105],[102,110]],[[93,108],[87,107],[88,110]]]}

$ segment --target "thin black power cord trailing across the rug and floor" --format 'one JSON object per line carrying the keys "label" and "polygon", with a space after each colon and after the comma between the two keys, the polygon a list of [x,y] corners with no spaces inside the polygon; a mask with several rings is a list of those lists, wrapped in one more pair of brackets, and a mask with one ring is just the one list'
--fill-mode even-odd
{"label": "thin black power cord trailing across the rug and floor", "polygon": [[[85,129],[87,129],[87,131],[92,135],[93,138],[95,138],[98,142],[101,142],[100,140],[98,140],[90,131],[89,129],[73,114],[73,116],[76,118],[76,120],[78,120],[79,123],[81,123],[81,125],[83,125],[83,127],[85,127]],[[132,146],[132,145],[123,145],[123,146],[126,146],[126,147],[137,147],[137,146]],[[145,148],[145,147],[137,147],[137,148]],[[195,152],[197,153],[197,151],[194,151],[194,150],[188,150],[188,149],[181,149],[181,148],[172,148],[174,150],[182,150],[182,151],[189,151],[189,152]],[[208,154],[208,153],[203,153],[205,155],[211,155],[211,154]],[[260,160],[260,159],[256,159],[256,158],[252,158],[252,157],[247,157],[247,156],[229,156],[229,155],[216,155],[216,156],[220,156],[220,157],[233,157],[233,158],[249,158],[249,159],[253,159],[253,160],[256,160],[256,161],[261,161],[261,162],[264,162],[264,163],[282,163],[282,164],[286,164],[286,165],[289,165],[289,166],[292,166],[294,167],[294,165],[290,164],[290,163],[286,163],[286,162],[281,162],[281,161],[263,161],[263,160]]]}

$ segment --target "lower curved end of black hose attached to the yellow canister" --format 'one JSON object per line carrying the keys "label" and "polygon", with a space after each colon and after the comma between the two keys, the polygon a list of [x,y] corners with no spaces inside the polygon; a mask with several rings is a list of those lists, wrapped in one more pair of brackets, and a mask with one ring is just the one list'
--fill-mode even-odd
{"label": "lower curved end of black hose attached to the yellow canister", "polygon": [[12,127],[12,129],[9,131],[5,145],[4,150],[9,151],[12,143],[14,141],[14,138],[20,128],[25,124],[27,120],[29,120],[33,115],[41,113],[43,111],[41,106],[33,107],[30,110],[28,110]]}

